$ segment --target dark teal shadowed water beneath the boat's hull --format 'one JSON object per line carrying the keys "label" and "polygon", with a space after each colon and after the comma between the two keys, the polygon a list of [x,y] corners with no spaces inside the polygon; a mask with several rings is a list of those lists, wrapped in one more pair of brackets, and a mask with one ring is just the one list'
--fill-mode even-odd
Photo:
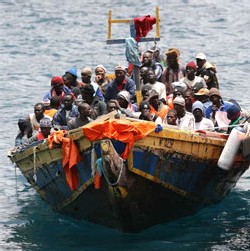
{"label": "dark teal shadowed water beneath the boat's hull", "polygon": [[[232,192],[194,216],[137,234],[121,233],[58,214],[32,188],[17,195],[8,245],[21,250],[249,250],[250,191]],[[19,193],[19,192],[18,192]],[[26,193],[26,196],[24,196]]]}

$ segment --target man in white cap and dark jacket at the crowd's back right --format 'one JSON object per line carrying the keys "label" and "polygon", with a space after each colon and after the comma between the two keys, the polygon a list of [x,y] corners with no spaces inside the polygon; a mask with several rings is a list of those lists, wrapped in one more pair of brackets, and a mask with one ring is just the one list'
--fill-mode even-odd
{"label": "man in white cap and dark jacket at the crowd's back right", "polygon": [[198,53],[196,55],[197,72],[196,76],[204,78],[207,84],[207,88],[219,89],[219,83],[216,77],[216,67],[207,62],[207,57],[204,53]]}

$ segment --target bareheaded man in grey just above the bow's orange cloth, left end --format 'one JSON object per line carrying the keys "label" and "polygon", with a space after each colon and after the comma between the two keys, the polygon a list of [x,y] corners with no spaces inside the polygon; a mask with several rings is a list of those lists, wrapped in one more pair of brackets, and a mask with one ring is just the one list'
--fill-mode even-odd
{"label": "bareheaded man in grey just above the bow's orange cloth, left end", "polygon": [[72,130],[81,126],[88,124],[93,121],[92,117],[92,109],[88,103],[82,102],[78,106],[79,116],[73,118],[68,123],[68,130]]}

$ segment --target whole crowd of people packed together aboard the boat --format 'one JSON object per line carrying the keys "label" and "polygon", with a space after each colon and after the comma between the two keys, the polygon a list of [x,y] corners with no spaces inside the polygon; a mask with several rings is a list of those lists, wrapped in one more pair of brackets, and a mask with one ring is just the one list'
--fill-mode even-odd
{"label": "whole crowd of people packed together aboard the boat", "polygon": [[118,64],[114,74],[97,65],[72,67],[63,76],[54,76],[48,92],[34,105],[33,113],[18,121],[15,145],[43,140],[53,130],[71,130],[117,111],[124,116],[154,121],[182,130],[209,130],[230,133],[248,116],[234,100],[224,101],[219,90],[216,67],[204,53],[185,66],[180,51],[170,48],[161,55],[156,46],[142,54],[140,66],[142,100],[137,100],[133,67]]}

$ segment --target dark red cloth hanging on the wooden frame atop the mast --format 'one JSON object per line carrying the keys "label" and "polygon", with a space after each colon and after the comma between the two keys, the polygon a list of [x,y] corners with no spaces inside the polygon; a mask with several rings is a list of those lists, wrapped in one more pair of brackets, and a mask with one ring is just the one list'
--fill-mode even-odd
{"label": "dark red cloth hanging on the wooden frame atop the mast", "polygon": [[150,17],[150,15],[143,17],[135,17],[134,25],[136,36],[135,40],[140,41],[140,37],[146,37],[147,34],[153,29],[153,25],[156,23],[155,17]]}

